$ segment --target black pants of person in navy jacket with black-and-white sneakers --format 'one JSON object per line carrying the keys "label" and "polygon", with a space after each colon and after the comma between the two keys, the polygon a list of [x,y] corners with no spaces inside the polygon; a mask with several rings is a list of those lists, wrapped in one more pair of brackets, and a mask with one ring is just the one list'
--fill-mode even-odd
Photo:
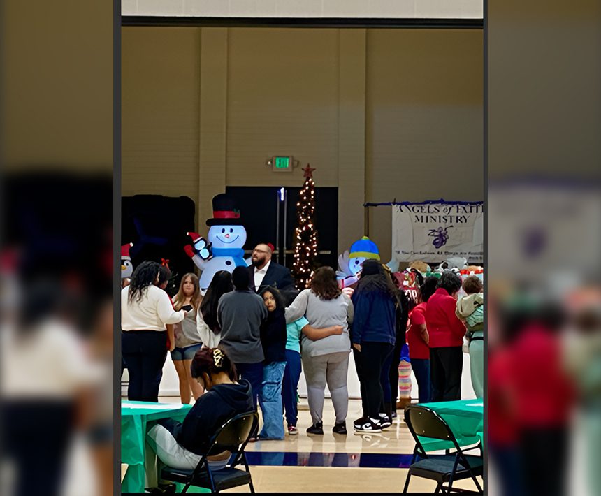
{"label": "black pants of person in navy jacket with black-and-white sneakers", "polygon": [[[361,343],[361,384],[365,389],[365,400],[370,418],[379,418],[380,405],[384,403],[382,391],[382,367],[392,352],[390,343]],[[388,398],[386,398],[388,400]]]}

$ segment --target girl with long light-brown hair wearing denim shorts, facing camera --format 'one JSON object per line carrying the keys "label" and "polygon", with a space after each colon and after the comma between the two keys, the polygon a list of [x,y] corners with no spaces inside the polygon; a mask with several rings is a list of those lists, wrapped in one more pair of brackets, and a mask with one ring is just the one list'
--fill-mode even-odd
{"label": "girl with long light-brown hair wearing denim shorts, facing camera", "polygon": [[201,349],[203,342],[198,333],[198,314],[203,297],[198,284],[198,276],[193,272],[188,272],[182,277],[180,290],[173,297],[173,308],[176,310],[185,310],[186,318],[180,323],[175,324],[173,332],[175,335],[175,349],[171,351],[171,360],[175,366],[175,372],[178,372],[180,382],[180,397],[183,404],[188,404],[191,394],[194,400],[203,393],[198,382],[192,379],[190,374],[190,365],[196,351]]}

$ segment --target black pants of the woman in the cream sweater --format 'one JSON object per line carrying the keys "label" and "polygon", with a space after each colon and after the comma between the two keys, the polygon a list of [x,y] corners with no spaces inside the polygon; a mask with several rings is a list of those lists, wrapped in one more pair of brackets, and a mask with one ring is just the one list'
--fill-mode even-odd
{"label": "black pants of the woman in the cream sweater", "polygon": [[167,358],[167,333],[129,330],[121,335],[121,354],[129,372],[127,399],[159,401],[159,385]]}

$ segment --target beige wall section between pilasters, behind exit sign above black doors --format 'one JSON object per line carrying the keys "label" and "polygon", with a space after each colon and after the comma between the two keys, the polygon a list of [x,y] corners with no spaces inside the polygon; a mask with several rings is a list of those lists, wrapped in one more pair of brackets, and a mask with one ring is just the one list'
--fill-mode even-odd
{"label": "beige wall section between pilasters, behind exit sign above black doors", "polygon": [[[227,105],[229,186],[338,186],[338,30],[230,29]],[[301,167],[273,173],[276,154]]]}

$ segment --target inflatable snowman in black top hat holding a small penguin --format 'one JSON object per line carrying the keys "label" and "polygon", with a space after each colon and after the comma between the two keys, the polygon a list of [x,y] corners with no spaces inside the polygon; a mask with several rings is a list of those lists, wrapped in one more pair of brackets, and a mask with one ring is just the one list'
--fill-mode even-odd
{"label": "inflatable snowman in black top hat holding a small penguin", "polygon": [[198,233],[188,233],[194,245],[184,247],[196,267],[203,271],[200,278],[203,292],[209,287],[215,272],[232,272],[239,265],[247,267],[250,264],[250,258],[244,259],[246,229],[242,226],[236,201],[227,194],[219,194],[213,197],[212,203],[213,218],[207,220],[208,240]]}

